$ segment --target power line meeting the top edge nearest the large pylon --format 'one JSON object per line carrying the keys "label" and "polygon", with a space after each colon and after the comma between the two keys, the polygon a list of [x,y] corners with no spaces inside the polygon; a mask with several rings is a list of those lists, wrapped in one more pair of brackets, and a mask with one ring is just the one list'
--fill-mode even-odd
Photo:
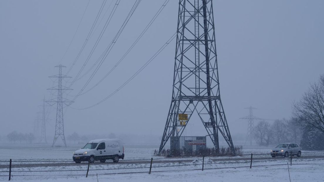
{"label": "power line meeting the top edge nearest the large pylon", "polygon": [[[154,15],[154,17],[151,19],[151,21],[148,23],[148,25],[144,28],[144,30],[141,32],[141,34],[137,37],[137,39],[133,42],[133,44],[131,45],[131,47],[124,53],[124,55],[121,57],[121,59],[110,69],[110,71],[103,77],[100,79],[100,81],[95,84],[94,86],[92,86],[90,89],[88,89],[86,92],[83,92],[81,95],[86,94],[87,92],[89,92],[90,90],[92,90],[93,88],[95,88],[97,85],[99,85],[118,65],[119,63],[121,63],[121,61],[124,60],[124,58],[128,55],[128,53],[134,48],[134,46],[137,44],[137,42],[143,37],[143,35],[145,34],[145,32],[151,27],[151,25],[153,24],[153,22],[155,21],[155,19],[159,16],[159,14],[162,12],[163,8],[168,4],[169,0],[166,0],[163,5],[159,8],[159,10],[156,12],[156,14]],[[91,67],[90,69],[92,69],[93,67]],[[89,70],[90,70],[89,69]]]}

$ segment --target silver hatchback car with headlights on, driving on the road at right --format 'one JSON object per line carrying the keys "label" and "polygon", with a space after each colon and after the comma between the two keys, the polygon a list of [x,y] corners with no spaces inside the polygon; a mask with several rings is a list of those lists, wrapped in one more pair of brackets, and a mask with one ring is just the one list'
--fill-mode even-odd
{"label": "silver hatchback car with headlights on, driving on the road at right", "polygon": [[290,154],[292,154],[292,156],[297,155],[298,157],[300,157],[300,155],[302,154],[302,149],[296,143],[281,143],[276,146],[276,148],[272,149],[270,151],[270,154],[272,157],[288,157]]}

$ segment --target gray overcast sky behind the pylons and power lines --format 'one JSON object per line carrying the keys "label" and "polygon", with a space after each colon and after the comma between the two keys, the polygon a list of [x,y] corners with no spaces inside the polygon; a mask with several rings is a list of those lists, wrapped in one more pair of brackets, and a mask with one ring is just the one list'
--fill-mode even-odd
{"label": "gray overcast sky behind the pylons and power lines", "polygon": [[[0,133],[33,131],[41,99],[51,95],[48,78],[59,63],[72,65],[102,1],[90,1],[75,39],[61,61],[87,0],[0,1]],[[111,0],[107,1],[103,12]],[[121,0],[103,38],[87,64],[89,68],[121,26],[134,0]],[[87,88],[120,59],[164,0],[143,0],[112,52]],[[126,59],[95,89],[72,105],[84,108],[109,95],[137,71],[176,31],[179,1],[171,0]],[[111,9],[112,6],[110,6]],[[108,13],[70,72],[75,77],[87,58]],[[291,104],[318,80],[324,68],[324,1],[214,0],[216,48],[221,97],[233,136],[246,133],[248,115],[258,108],[265,119],[291,117]],[[99,18],[99,20],[101,17]],[[102,104],[86,109],[65,108],[64,127],[79,133],[153,133],[162,135],[172,92],[175,40],[127,86]],[[73,85],[75,95],[89,75]],[[71,81],[71,80],[70,80]],[[55,95],[56,93],[54,93]],[[66,98],[72,98],[64,95]],[[47,131],[52,135],[56,108]],[[203,127],[196,121],[193,126]],[[200,123],[200,121],[199,121]],[[190,131],[190,132],[189,132]],[[195,135],[188,125],[187,135]],[[200,134],[200,133],[196,133]],[[203,133],[204,134],[204,133]]]}

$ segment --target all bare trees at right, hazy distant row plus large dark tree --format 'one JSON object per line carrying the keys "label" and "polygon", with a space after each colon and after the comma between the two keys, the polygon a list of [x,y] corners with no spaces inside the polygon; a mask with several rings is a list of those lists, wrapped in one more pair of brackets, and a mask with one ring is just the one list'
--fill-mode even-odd
{"label": "all bare trees at right, hazy distant row plus large dark tree", "polygon": [[324,150],[324,75],[293,104],[292,119],[261,121],[254,128],[260,145],[300,143],[306,150]]}

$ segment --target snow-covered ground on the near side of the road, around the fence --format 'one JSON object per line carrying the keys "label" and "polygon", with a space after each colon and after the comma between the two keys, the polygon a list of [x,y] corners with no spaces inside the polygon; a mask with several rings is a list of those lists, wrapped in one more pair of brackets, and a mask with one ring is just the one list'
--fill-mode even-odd
{"label": "snow-covered ground on the near side of the road, around the fence", "polygon": [[[169,166],[169,167],[158,167],[166,164],[154,164],[152,168],[152,173],[149,175],[147,173],[148,169],[125,169],[125,170],[105,170],[105,171],[89,171],[90,175],[95,176],[68,176],[68,177],[59,177],[59,176],[13,176],[13,181],[25,181],[25,182],[40,182],[40,181],[49,181],[49,182],[93,182],[97,181],[157,181],[157,182],[165,182],[165,181],[289,181],[288,175],[288,166],[287,165],[277,165],[277,166],[261,166],[240,168],[240,166],[249,166],[249,163],[237,163],[237,164],[212,164],[213,161],[206,159],[206,162],[210,163],[205,164],[204,171],[201,170],[191,170],[191,169],[201,169],[200,160],[193,161],[192,163],[169,163],[168,165],[185,165],[185,164],[197,164],[191,166]],[[255,162],[253,165],[275,165],[275,164],[287,164],[287,161],[269,161],[269,162]],[[295,160],[293,164],[309,164],[309,165],[289,165],[290,169],[290,177],[291,181],[324,181],[324,160],[323,159],[302,159]],[[317,164],[317,165],[316,165]],[[322,165],[319,165],[322,164]],[[118,167],[145,167],[147,165],[95,165],[91,166],[91,169],[100,169],[100,168],[118,168]],[[222,167],[236,167],[236,168],[223,168],[223,169],[209,169],[209,168],[222,168]],[[64,166],[63,169],[85,169],[85,166]],[[30,168],[30,170],[42,169],[47,170],[50,168],[37,167]],[[52,167],[52,169],[62,169],[62,167]],[[19,169],[26,170],[26,169]],[[168,172],[154,172],[154,171],[163,171],[163,170],[171,170]],[[180,171],[183,170],[183,171]],[[145,173],[140,174],[110,174],[110,175],[101,175],[104,173],[116,173],[116,172],[141,172],[145,171]],[[67,172],[69,174],[78,174],[75,172]],[[13,175],[16,173],[13,173]],[[19,173],[20,174],[20,173]],[[31,174],[31,173],[29,173]],[[37,174],[37,173],[33,173]],[[51,172],[49,175],[56,174],[64,174],[64,172]],[[2,177],[0,180],[7,180],[7,177]]]}

